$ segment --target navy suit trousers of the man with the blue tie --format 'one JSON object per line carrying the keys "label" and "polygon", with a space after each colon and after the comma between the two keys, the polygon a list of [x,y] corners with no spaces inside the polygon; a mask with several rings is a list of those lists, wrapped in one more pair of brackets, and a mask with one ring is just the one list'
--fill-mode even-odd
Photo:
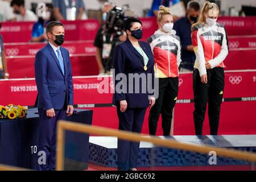
{"label": "navy suit trousers of the man with the blue tie", "polygon": [[[46,154],[46,164],[38,163],[38,170],[40,171],[55,170],[56,126],[57,126],[58,120],[60,119],[65,120],[66,110],[60,109],[60,110],[54,110],[54,111],[55,111],[55,117],[49,118],[46,115],[46,110],[38,109],[39,130],[40,130],[38,152],[44,151]],[[40,155],[38,157],[40,158]]]}

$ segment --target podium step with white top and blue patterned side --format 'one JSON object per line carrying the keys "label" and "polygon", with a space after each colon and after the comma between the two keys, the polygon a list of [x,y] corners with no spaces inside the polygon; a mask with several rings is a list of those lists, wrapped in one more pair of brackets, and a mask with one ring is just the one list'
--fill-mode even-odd
{"label": "podium step with white top and blue patterned side", "polygon": [[[256,152],[256,135],[183,135],[160,138],[175,139],[178,142],[189,144],[204,144]],[[138,167],[249,165],[249,162],[244,160],[224,158],[218,155],[216,160],[212,160],[213,158],[211,157],[212,154],[200,154],[141,142],[139,146]],[[105,167],[117,167],[117,138],[90,137],[89,160]]]}

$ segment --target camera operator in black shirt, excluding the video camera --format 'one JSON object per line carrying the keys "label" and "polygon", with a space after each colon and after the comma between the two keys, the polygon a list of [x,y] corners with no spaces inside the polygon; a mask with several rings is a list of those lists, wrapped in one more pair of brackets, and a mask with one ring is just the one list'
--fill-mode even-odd
{"label": "camera operator in black shirt, excluding the video camera", "polygon": [[[96,47],[96,60],[97,60],[97,64],[98,64],[98,69],[99,69],[99,73],[106,73],[108,72],[109,73],[109,69],[108,70],[105,70],[106,69],[106,64],[107,64],[107,61],[108,59],[105,59],[103,56],[102,56],[102,53],[105,52],[106,50],[104,50],[104,44],[105,45],[108,45],[108,44],[111,44],[111,32],[109,32],[109,34],[105,34],[105,33],[108,33],[108,32],[105,32],[106,31],[106,20],[108,18],[108,12],[110,10],[113,9],[113,4],[112,3],[109,3],[109,2],[106,2],[104,3],[104,5],[102,6],[102,25],[101,27],[98,29],[97,31],[97,34],[96,34],[96,37],[94,39],[94,46]],[[104,37],[105,36],[105,37]],[[125,42],[125,40],[127,39],[127,35],[125,34],[125,32],[123,32],[123,34],[121,36],[119,36],[119,41],[120,42]],[[112,47],[112,46],[110,46]],[[110,53],[111,52],[111,48],[108,47],[108,46],[105,46],[105,49],[106,48],[109,48],[108,52]]]}

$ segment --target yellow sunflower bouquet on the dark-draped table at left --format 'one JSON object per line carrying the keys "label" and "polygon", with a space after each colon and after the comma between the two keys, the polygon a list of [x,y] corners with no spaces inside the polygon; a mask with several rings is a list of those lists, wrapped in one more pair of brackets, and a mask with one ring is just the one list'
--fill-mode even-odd
{"label": "yellow sunflower bouquet on the dark-draped table at left", "polygon": [[0,105],[0,119],[18,119],[25,118],[27,108],[20,105],[9,104],[7,106]]}

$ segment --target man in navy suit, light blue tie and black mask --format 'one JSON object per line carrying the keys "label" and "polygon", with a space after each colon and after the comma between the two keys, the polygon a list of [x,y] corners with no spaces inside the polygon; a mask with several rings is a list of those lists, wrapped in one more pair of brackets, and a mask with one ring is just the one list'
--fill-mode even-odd
{"label": "man in navy suit, light blue tie and black mask", "polygon": [[40,122],[38,155],[39,170],[55,170],[57,120],[73,114],[73,81],[71,61],[64,42],[64,26],[49,22],[46,26],[49,43],[35,56],[35,80],[38,87]]}

